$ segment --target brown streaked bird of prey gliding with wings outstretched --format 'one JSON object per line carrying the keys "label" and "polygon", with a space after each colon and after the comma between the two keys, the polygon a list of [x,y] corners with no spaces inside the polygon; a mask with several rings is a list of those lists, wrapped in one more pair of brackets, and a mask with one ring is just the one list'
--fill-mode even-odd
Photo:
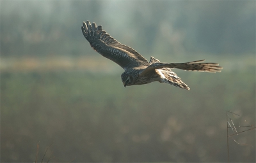
{"label": "brown streaked bird of prey gliding with wings outstretched", "polygon": [[133,48],[119,43],[111,37],[102,26],[89,21],[83,22],[82,32],[84,38],[92,48],[124,69],[121,75],[124,87],[141,85],[159,81],[168,83],[182,89],[189,90],[186,85],[171,69],[183,69],[186,71],[204,71],[209,73],[221,72],[223,67],[216,63],[202,63],[204,60],[196,60],[185,63],[163,63],[151,57],[149,62]]}

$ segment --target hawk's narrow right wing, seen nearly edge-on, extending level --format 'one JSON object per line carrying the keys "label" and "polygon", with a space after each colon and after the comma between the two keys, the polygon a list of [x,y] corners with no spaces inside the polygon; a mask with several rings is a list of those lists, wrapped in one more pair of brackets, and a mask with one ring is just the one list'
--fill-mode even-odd
{"label": "hawk's narrow right wing, seen nearly edge-on, extending level", "polygon": [[204,62],[204,60],[196,60],[192,62],[186,62],[186,63],[154,63],[148,66],[144,71],[140,73],[140,75],[144,75],[152,70],[155,69],[162,69],[164,67],[167,68],[177,68],[177,69],[183,69],[186,71],[201,71],[201,72],[208,72],[208,73],[216,73],[221,72],[221,69],[223,67],[220,67],[219,64],[216,63],[201,63]]}

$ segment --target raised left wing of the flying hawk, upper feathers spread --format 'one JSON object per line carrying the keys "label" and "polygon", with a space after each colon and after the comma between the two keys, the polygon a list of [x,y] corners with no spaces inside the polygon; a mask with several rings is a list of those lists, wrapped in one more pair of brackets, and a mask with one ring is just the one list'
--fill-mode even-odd
{"label": "raised left wing of the flying hawk, upper feathers spread", "polygon": [[123,45],[109,36],[102,26],[89,21],[83,22],[82,32],[92,48],[102,56],[113,60],[123,69],[148,66],[148,61],[140,53],[129,46]]}

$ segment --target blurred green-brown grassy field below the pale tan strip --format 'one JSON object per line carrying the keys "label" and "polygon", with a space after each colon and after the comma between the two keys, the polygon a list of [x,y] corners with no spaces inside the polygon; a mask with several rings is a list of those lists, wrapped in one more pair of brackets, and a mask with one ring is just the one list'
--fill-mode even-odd
{"label": "blurred green-brown grassy field below the pale tan strip", "polygon": [[[38,159],[53,143],[54,162],[226,162],[226,111],[255,124],[255,66],[226,65],[175,71],[189,91],[76,68],[2,71],[1,162],[34,161],[38,141]],[[230,162],[255,162],[255,132],[233,138]]]}

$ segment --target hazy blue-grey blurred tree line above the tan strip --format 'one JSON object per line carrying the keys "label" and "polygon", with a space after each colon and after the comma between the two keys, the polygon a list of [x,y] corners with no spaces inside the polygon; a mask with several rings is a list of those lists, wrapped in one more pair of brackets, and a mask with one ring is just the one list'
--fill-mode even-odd
{"label": "hazy blue-grey blurred tree line above the tan strip", "polygon": [[255,53],[255,1],[1,1],[1,56],[84,55],[86,20],[148,56]]}

